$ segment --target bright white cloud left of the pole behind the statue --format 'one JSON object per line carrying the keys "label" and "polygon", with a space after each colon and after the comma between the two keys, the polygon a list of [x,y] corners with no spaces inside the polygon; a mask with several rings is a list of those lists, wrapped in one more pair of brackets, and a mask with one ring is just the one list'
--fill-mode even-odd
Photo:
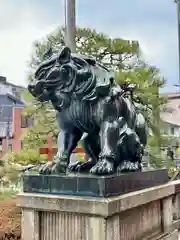
{"label": "bright white cloud left of the pole behind the statue", "polygon": [[[2,1],[0,1],[0,4]],[[0,74],[8,81],[24,85],[32,43],[53,29],[35,9],[3,1],[0,8]]]}

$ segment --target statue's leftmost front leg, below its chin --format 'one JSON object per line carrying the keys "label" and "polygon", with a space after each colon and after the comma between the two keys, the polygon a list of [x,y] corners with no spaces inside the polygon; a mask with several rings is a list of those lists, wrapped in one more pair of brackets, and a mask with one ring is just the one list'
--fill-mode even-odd
{"label": "statue's leftmost front leg, below its chin", "polygon": [[60,174],[66,173],[69,165],[72,151],[76,148],[78,141],[81,139],[82,132],[78,129],[73,131],[61,131],[58,141],[58,153],[54,160],[45,164],[41,169],[41,174]]}

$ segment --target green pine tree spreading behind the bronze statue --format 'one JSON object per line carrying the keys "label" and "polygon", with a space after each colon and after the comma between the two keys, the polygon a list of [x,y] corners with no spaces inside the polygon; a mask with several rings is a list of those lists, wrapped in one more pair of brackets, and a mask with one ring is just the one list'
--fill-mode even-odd
{"label": "green pine tree spreading behind the bronze statue", "polygon": [[[64,45],[64,28],[60,27],[43,40],[34,43],[33,55],[29,66],[29,80],[33,72],[43,60],[47,45],[51,45],[53,53],[57,53]],[[128,41],[121,38],[110,38],[108,35],[98,33],[87,28],[78,28],[76,33],[77,53],[90,55],[100,63],[116,72],[116,81],[119,84],[135,83],[135,94],[144,106],[144,114],[149,127],[155,136],[160,139],[159,111],[164,99],[159,97],[159,89],[164,86],[165,80],[160,76],[156,67],[149,66],[141,59],[141,50],[137,41]],[[26,93],[26,97],[27,97]],[[31,99],[33,106],[25,109],[25,114],[33,116],[35,124],[24,137],[26,148],[39,148],[44,144],[48,133],[56,138],[58,129],[55,112],[47,104],[37,103]]]}

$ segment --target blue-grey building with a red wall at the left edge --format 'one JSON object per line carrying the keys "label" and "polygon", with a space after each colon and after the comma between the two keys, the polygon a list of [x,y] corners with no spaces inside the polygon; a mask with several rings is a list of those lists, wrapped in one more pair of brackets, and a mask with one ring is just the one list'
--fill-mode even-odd
{"label": "blue-grey building with a red wall at the left edge", "polygon": [[21,134],[30,124],[23,116],[24,102],[9,93],[0,94],[0,152],[21,150]]}

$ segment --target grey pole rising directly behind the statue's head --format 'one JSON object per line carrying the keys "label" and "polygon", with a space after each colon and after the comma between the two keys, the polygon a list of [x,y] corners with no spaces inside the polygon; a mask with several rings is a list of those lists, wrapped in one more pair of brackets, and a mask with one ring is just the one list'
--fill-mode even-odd
{"label": "grey pole rising directly behind the statue's head", "polygon": [[65,0],[65,42],[72,52],[76,51],[76,3]]}

